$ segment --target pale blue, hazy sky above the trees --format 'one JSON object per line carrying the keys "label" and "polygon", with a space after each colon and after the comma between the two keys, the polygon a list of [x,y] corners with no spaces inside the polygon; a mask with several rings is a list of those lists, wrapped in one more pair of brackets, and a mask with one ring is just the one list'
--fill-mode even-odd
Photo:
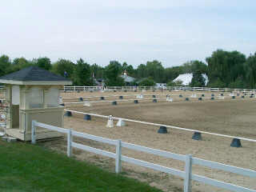
{"label": "pale blue, hazy sky above the trees", "polygon": [[0,55],[165,67],[256,52],[255,0],[2,0]]}

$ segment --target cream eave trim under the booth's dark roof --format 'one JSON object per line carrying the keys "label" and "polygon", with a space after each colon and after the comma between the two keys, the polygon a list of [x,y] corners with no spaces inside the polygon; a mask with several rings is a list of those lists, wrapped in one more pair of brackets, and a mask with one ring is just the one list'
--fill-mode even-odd
{"label": "cream eave trim under the booth's dark roof", "polygon": [[0,83],[3,84],[11,84],[11,85],[21,85],[21,86],[66,86],[66,85],[72,85],[71,81],[38,81],[38,82],[30,82],[30,81],[14,81],[14,80],[6,80],[6,79],[0,79]]}

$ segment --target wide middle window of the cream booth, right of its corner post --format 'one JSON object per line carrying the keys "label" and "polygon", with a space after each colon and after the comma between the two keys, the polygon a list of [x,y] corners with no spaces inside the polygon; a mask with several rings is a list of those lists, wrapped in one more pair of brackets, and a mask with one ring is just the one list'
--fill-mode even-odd
{"label": "wide middle window of the cream booth, right of its corner post", "polygon": [[43,107],[43,90],[40,88],[31,88],[29,94],[30,109]]}

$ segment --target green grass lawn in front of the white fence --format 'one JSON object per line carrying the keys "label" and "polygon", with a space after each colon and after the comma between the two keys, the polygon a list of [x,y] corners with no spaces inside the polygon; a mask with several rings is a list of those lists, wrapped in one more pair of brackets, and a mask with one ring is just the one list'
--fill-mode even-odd
{"label": "green grass lawn in front of the white fence", "polygon": [[161,191],[64,154],[24,142],[0,141],[0,191]]}

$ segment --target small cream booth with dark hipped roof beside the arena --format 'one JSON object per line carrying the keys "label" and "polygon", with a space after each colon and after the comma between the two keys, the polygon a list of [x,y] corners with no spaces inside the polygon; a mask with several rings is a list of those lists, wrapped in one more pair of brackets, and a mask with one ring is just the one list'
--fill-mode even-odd
{"label": "small cream booth with dark hipped roof beside the arena", "polygon": [[[30,141],[31,122],[37,119],[52,126],[63,126],[64,108],[58,105],[60,90],[72,82],[37,66],[30,66],[0,77],[6,86],[6,134]],[[62,134],[37,130],[38,139],[56,138]]]}

